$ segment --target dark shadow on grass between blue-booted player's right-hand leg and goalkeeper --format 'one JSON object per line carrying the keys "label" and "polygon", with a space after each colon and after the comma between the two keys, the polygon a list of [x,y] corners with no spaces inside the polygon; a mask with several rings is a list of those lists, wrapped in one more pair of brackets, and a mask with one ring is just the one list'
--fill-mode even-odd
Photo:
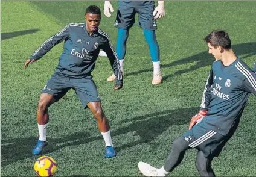
{"label": "dark shadow on grass between blue-booted player's right-hand leg and goalkeeper", "polygon": [[125,122],[131,121],[129,126],[118,129],[112,132],[112,136],[126,134],[127,132],[134,132],[135,136],[139,136],[140,139],[131,143],[122,144],[115,148],[115,151],[126,149],[127,147],[133,147],[142,143],[149,143],[155,140],[163,132],[167,131],[170,126],[184,125],[189,123],[191,117],[197,113],[199,108],[181,108],[176,110],[167,110],[161,113],[147,114],[133,119],[126,119]]}

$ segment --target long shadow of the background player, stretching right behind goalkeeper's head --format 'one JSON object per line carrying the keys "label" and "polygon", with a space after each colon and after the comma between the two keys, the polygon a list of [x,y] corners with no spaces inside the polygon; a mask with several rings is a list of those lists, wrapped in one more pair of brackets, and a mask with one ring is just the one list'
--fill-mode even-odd
{"label": "long shadow of the background player, stretching right behind goalkeeper's head", "polygon": [[[241,43],[238,45],[233,45],[232,49],[234,50],[235,54],[240,58],[240,59],[245,59],[247,57],[251,57],[256,55],[256,42],[251,42],[251,43]],[[245,55],[243,57],[240,57],[242,55]],[[191,67],[184,67],[183,70],[178,70],[177,72],[170,74],[170,75],[164,75],[163,76],[163,80],[171,78],[175,75],[181,75],[182,73],[187,73],[187,72],[191,72],[193,70],[197,70],[200,67],[205,67],[205,66],[209,66],[213,63],[214,58],[211,54],[208,54],[208,51],[205,52],[201,52],[199,54],[193,55],[191,57],[187,57],[187,58],[182,58],[176,61],[173,61],[171,63],[168,64],[161,64],[161,68],[164,67],[173,67],[173,66],[179,66],[182,64],[188,64],[188,63],[196,63],[196,65],[191,66]],[[129,76],[129,75],[138,75],[140,73],[143,72],[151,72],[153,71],[153,68],[150,69],[142,69],[142,70],[138,70],[135,72],[130,72],[130,73],[126,73],[125,76]]]}

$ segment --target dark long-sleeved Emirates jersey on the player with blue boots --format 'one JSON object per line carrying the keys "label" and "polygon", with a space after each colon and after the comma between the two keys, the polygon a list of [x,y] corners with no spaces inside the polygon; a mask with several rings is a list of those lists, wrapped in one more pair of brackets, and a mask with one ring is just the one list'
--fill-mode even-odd
{"label": "dark long-sleeved Emirates jersey on the player with blue boots", "polygon": [[85,23],[70,23],[65,26],[59,33],[46,40],[32,54],[30,60],[39,60],[53,46],[62,41],[65,41],[63,45],[64,51],[60,55],[59,64],[55,70],[57,74],[72,78],[83,78],[91,75],[100,49],[103,49],[109,58],[117,79],[123,79],[117,54],[107,33],[98,29],[90,36],[86,30]]}

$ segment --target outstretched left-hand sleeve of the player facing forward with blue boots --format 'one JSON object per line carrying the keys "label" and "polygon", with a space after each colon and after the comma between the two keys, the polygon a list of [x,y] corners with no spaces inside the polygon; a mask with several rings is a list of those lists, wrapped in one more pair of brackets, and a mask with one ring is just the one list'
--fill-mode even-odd
{"label": "outstretched left-hand sleeve of the player facing forward with blue boots", "polygon": [[69,38],[69,30],[71,24],[65,26],[59,33],[51,36],[48,40],[46,40],[34,53],[31,55],[30,60],[39,60],[43,57],[47,52],[49,52],[55,45],[61,43],[63,40]]}

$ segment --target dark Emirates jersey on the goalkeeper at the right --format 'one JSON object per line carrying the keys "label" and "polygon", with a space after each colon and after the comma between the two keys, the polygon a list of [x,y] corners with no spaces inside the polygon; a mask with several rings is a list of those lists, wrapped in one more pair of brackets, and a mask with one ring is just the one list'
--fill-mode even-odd
{"label": "dark Emirates jersey on the goalkeeper at the right", "polygon": [[214,61],[205,85],[201,110],[205,125],[222,135],[238,125],[250,93],[256,95],[256,74],[237,58],[231,65]]}

